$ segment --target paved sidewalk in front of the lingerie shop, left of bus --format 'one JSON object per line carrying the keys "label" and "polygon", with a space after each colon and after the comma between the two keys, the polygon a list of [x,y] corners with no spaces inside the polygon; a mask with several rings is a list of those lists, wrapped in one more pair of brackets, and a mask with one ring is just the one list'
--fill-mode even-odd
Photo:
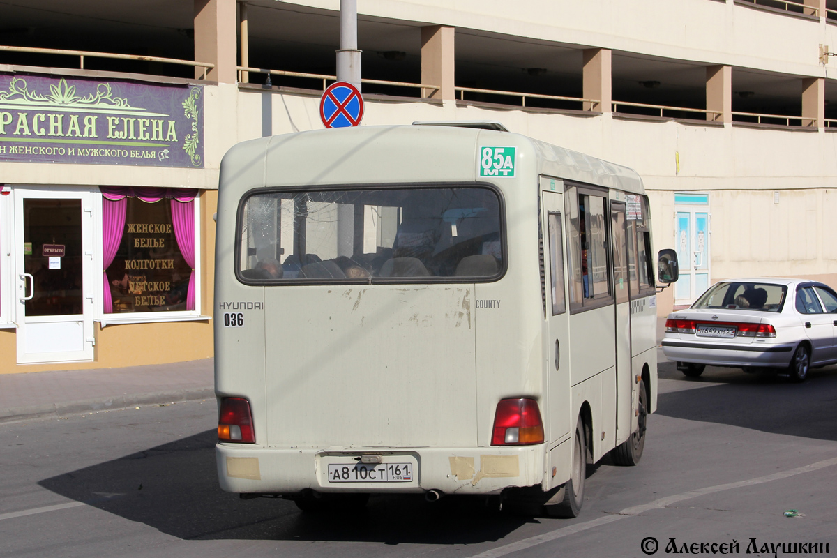
{"label": "paved sidewalk in front of the lingerie shop, left of bus", "polygon": [[214,359],[0,375],[0,422],[214,399]]}

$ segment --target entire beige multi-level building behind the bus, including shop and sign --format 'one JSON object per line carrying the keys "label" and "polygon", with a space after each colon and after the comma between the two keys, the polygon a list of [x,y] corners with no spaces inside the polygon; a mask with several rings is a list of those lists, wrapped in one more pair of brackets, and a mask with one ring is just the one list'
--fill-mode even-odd
{"label": "entire beige multi-level building behind the bus, including shop and sign", "polygon": [[[221,158],[322,127],[339,1],[0,22],[0,372],[211,356]],[[358,48],[363,125],[499,120],[638,171],[681,259],[660,314],[728,277],[837,284],[837,0],[360,0]]]}

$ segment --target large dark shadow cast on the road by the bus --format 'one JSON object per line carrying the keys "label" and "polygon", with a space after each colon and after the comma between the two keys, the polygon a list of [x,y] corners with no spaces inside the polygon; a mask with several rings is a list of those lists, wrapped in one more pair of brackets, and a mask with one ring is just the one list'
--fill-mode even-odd
{"label": "large dark shadow cast on the road by the bus", "polygon": [[372,496],[366,509],[339,514],[303,514],[284,499],[241,500],[218,489],[216,435],[210,430],[39,484],[189,540],[468,545],[501,540],[532,521],[496,513],[484,499],[466,497],[429,504],[421,494]]}

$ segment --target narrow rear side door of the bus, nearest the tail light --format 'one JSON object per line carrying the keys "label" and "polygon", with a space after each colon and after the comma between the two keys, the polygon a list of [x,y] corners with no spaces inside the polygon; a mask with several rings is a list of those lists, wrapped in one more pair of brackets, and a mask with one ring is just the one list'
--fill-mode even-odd
{"label": "narrow rear side door of the bus, nearest the tail light", "polygon": [[[569,314],[564,267],[563,183],[541,177],[544,303],[547,317],[547,417],[550,449],[575,431],[570,400]],[[571,424],[572,423],[572,424]],[[568,459],[567,459],[568,461]]]}

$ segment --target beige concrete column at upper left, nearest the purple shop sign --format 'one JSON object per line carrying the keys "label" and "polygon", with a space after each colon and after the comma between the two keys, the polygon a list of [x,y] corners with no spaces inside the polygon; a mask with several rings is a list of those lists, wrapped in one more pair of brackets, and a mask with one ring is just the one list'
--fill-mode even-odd
{"label": "beige concrete column at upper left, nearest the purple shop sign", "polygon": [[[194,0],[195,61],[210,62],[215,67],[207,79],[219,83],[236,82],[236,13],[235,0]],[[195,68],[195,77],[203,69]]]}

